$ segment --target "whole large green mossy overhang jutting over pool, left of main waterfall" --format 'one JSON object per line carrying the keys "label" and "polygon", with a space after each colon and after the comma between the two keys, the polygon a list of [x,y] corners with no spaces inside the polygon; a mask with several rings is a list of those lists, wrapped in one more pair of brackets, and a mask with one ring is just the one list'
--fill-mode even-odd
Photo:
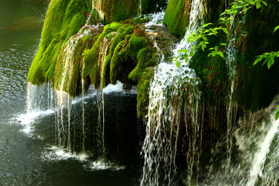
{"label": "whole large green mossy overhang jutting over pool, left of main waterfall", "polygon": [[[112,16],[105,17],[105,22],[137,15],[138,10],[127,16],[118,14],[117,11],[128,7],[123,8],[125,3],[122,3],[119,8],[119,2],[110,1],[115,10],[107,8],[109,1],[102,2],[100,8],[106,7],[105,11]],[[135,4],[131,5],[131,11],[137,9]],[[91,10],[91,2],[85,0],[50,2],[42,41],[27,81],[37,85],[50,81],[53,88],[72,97],[86,91],[89,84],[96,89],[116,84],[117,80],[137,85],[138,116],[144,118],[154,67],[160,55],[171,56],[170,46],[176,38],[163,26],[147,32],[146,18],[100,26],[94,8]]]}

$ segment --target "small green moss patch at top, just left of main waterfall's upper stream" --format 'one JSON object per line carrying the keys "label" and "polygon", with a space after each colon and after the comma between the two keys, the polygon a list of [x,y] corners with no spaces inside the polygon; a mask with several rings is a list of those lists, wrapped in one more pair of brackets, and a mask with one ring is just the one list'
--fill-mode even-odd
{"label": "small green moss patch at top, just left of main waterfall's upper stream", "polygon": [[169,0],[163,23],[167,25],[170,33],[183,35],[189,23],[191,1]]}

